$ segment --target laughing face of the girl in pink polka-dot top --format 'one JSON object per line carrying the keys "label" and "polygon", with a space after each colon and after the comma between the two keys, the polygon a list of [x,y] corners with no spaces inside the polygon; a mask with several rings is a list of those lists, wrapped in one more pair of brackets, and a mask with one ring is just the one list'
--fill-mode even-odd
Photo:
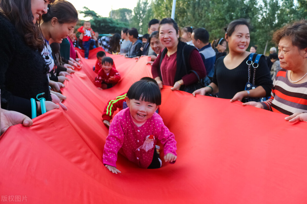
{"label": "laughing face of the girl in pink polka-dot top", "polygon": [[159,105],[144,100],[129,99],[126,97],[127,106],[130,108],[130,114],[134,123],[145,123],[147,119],[153,116],[153,113],[159,108]]}

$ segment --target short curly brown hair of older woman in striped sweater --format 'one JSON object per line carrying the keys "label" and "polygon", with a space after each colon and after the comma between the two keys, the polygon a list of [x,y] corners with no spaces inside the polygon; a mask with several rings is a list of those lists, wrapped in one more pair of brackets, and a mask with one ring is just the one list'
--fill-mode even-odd
{"label": "short curly brown hair of older woman in striped sweater", "polygon": [[293,24],[287,24],[273,34],[275,43],[279,43],[283,37],[288,37],[292,44],[300,49],[307,47],[307,21],[296,21]]}

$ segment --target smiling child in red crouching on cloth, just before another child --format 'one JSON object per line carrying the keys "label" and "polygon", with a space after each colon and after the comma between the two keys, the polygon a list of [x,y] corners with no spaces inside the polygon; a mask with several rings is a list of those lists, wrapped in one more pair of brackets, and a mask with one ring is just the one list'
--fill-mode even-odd
{"label": "smiling child in red crouching on cloth, just before another child", "polygon": [[95,78],[95,85],[98,89],[109,89],[120,80],[118,71],[112,67],[113,64],[114,62],[111,57],[102,59],[101,69],[98,72],[98,76]]}

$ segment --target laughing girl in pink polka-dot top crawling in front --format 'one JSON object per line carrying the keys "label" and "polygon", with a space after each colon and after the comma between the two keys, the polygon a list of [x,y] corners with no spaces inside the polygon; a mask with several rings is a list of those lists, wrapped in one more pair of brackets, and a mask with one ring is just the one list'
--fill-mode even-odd
{"label": "laughing girl in pink polka-dot top crawling in front", "polygon": [[128,108],[115,115],[103,150],[103,164],[112,173],[121,173],[116,168],[117,153],[141,168],[160,168],[162,161],[155,145],[164,145],[165,162],[177,159],[174,134],[155,113],[161,104],[159,86],[146,80],[135,82],[127,92]]}

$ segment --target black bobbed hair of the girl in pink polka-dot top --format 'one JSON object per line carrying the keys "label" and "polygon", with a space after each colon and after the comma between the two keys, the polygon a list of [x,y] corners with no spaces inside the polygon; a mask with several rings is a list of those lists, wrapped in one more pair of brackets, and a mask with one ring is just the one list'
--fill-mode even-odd
{"label": "black bobbed hair of the girl in pink polka-dot top", "polygon": [[127,92],[127,97],[161,105],[161,92],[157,83],[150,80],[135,82]]}

